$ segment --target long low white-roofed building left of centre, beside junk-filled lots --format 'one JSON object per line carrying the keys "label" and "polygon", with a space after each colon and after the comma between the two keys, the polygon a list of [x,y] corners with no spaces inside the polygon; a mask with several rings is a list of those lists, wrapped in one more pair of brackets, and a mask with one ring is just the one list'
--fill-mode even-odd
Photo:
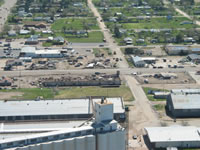
{"label": "long low white-roofed building left of centre, beside junk-filled lots", "polygon": [[19,57],[31,58],[62,58],[64,54],[61,50],[37,50],[35,47],[23,47]]}

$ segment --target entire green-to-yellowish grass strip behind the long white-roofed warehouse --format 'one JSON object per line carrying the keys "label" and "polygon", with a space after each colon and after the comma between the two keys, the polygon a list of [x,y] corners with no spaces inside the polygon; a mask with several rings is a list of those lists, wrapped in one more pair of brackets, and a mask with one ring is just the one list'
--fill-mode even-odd
{"label": "entire green-to-yellowish grass strip behind the long white-roofed warehouse", "polygon": [[21,96],[14,96],[10,99],[33,100],[38,96],[44,99],[59,98],[81,98],[87,96],[108,96],[123,97],[125,101],[134,100],[129,87],[122,85],[119,88],[101,88],[101,87],[69,87],[64,89],[52,88],[29,88],[29,89],[9,89],[1,90],[1,93],[20,92]]}

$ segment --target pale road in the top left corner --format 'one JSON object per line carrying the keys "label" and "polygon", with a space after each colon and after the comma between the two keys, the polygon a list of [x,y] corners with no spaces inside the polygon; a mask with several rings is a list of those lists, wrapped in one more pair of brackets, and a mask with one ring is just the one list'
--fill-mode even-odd
{"label": "pale road in the top left corner", "polygon": [[17,0],[5,0],[5,3],[0,7],[0,32],[3,29],[11,8],[16,2]]}

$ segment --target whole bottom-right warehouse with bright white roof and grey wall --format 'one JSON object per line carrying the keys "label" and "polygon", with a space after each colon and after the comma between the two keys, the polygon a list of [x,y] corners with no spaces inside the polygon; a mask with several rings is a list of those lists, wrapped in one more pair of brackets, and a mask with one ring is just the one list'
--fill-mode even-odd
{"label": "whole bottom-right warehouse with bright white roof and grey wall", "polygon": [[147,127],[144,130],[154,148],[200,147],[200,130],[193,126]]}

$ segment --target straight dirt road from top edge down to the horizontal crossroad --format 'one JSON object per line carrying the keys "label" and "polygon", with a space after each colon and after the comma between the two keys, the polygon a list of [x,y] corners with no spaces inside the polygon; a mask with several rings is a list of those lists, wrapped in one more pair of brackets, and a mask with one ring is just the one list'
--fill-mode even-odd
{"label": "straight dirt road from top edge down to the horizontal crossroad", "polygon": [[94,16],[97,17],[99,27],[100,27],[101,31],[103,32],[104,38],[105,38],[106,42],[109,44],[110,49],[113,52],[114,51],[116,52],[115,57],[122,59],[122,61],[120,61],[120,63],[119,63],[119,67],[120,68],[128,68],[128,64],[124,58],[124,54],[121,52],[119,46],[115,43],[115,40],[113,39],[112,34],[105,26],[105,23],[103,22],[103,19],[102,19],[101,15],[99,14],[98,10],[92,3],[92,0],[88,0],[88,7],[92,10]]}

